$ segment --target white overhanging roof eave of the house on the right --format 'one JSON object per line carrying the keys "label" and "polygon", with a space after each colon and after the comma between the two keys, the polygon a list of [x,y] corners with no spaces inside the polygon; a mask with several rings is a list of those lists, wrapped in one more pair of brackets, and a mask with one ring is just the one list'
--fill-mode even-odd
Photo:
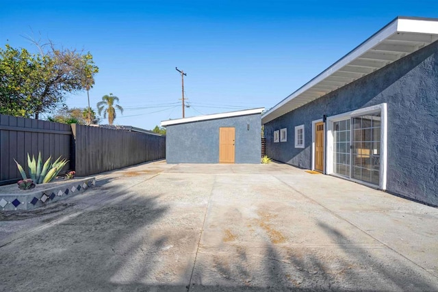
{"label": "white overhanging roof eave of the house on the right", "polygon": [[438,19],[398,17],[317,77],[272,107],[266,124],[438,40]]}

